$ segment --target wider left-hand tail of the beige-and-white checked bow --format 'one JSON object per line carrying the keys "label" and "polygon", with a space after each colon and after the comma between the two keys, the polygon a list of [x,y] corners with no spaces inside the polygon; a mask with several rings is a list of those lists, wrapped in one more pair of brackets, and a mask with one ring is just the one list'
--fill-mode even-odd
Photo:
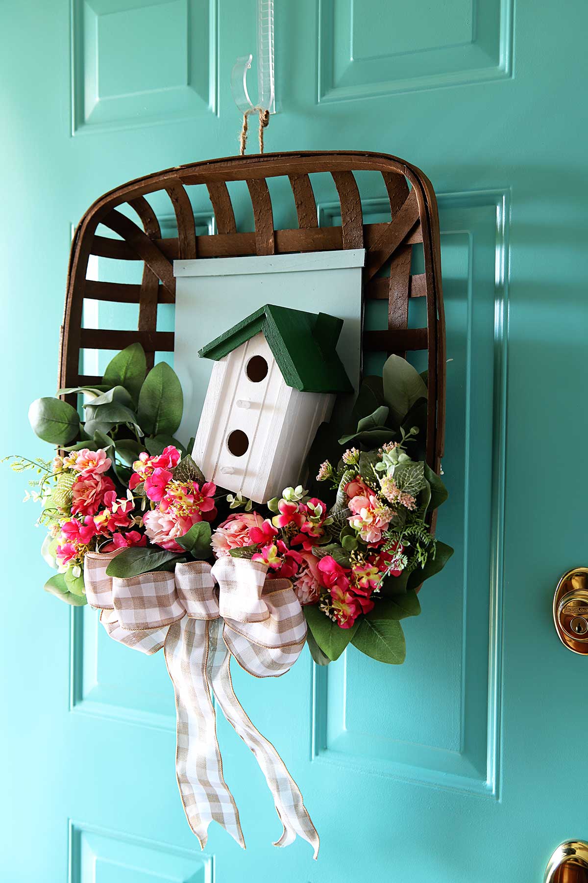
{"label": "wider left-hand tail of the beige-and-white checked bow", "polygon": [[167,671],[174,684],[177,716],[175,771],[190,828],[205,848],[208,826],[216,821],[245,849],[239,811],[223,776],[208,675],[210,655],[206,620],[184,616],[169,627]]}

